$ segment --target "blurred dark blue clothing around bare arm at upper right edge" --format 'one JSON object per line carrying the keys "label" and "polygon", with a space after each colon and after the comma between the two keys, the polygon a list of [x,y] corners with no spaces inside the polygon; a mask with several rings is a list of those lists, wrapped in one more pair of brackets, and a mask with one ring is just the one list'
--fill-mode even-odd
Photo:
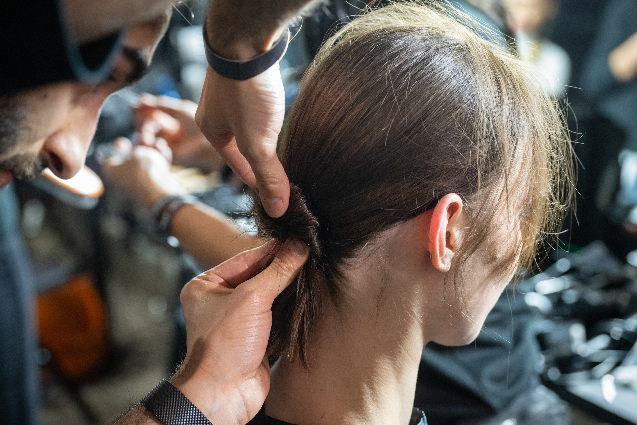
{"label": "blurred dark blue clothing around bare arm at upper right edge", "polygon": [[608,55],[637,32],[637,0],[612,0],[606,6],[582,71],[582,94],[599,112],[626,133],[625,147],[637,150],[637,78],[615,80]]}

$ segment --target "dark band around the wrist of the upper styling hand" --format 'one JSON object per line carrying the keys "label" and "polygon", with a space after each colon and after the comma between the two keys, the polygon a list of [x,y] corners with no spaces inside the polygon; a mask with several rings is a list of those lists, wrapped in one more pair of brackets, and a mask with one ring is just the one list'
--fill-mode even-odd
{"label": "dark band around the wrist of the upper styling hand", "polygon": [[281,34],[281,38],[276,41],[270,50],[266,50],[266,52],[256,55],[247,61],[233,61],[216,54],[210,47],[210,43],[208,43],[208,32],[206,32],[205,22],[203,25],[203,41],[206,47],[206,59],[208,59],[210,68],[214,69],[219,75],[225,76],[225,78],[244,81],[261,74],[281,60],[290,41],[290,30],[285,29],[283,34]]}

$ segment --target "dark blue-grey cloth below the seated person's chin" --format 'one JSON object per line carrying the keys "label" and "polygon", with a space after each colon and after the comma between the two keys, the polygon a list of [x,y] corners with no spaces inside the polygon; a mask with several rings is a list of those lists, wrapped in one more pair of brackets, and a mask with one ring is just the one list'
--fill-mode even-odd
{"label": "dark blue-grey cloth below the seated person's chin", "polygon": [[414,405],[424,410],[430,425],[494,415],[538,385],[534,365],[539,354],[524,294],[514,297],[508,288],[475,342],[464,347],[427,344]]}

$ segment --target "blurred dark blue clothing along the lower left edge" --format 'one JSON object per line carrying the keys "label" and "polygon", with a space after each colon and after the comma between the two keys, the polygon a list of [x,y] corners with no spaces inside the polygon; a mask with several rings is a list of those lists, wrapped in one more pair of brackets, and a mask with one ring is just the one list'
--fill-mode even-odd
{"label": "blurred dark blue clothing along the lower left edge", "polygon": [[0,190],[0,424],[35,425],[39,415],[34,285],[18,229],[17,199]]}

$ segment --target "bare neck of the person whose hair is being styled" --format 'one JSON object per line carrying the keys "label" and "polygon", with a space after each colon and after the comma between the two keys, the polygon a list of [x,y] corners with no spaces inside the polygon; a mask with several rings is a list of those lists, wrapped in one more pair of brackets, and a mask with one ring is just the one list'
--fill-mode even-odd
{"label": "bare neck of the person whose hair is being styled", "polygon": [[298,425],[407,425],[424,323],[414,301],[392,295],[378,305],[378,294],[362,294],[354,312],[323,319],[309,373],[298,362],[273,367],[266,414]]}

